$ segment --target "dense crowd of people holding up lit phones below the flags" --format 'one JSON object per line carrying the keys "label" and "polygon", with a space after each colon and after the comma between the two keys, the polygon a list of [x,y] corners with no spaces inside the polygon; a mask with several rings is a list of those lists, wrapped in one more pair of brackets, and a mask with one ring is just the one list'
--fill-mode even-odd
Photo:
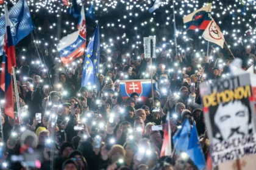
{"label": "dense crowd of people holding up lit phones below the flags", "polygon": [[[194,121],[206,158],[209,142],[199,84],[229,76],[232,56],[225,52],[212,49],[215,62],[206,54],[198,57],[192,49],[180,56],[162,53],[153,60],[154,66],[138,50],[136,57],[127,52],[101,54],[99,90],[90,83],[81,87],[83,56],[69,69],[48,49],[44,49],[46,67],[20,61],[14,118],[4,114],[1,101],[2,169],[197,169],[178,151],[160,157],[166,114],[171,114],[172,135],[187,118],[191,124]],[[244,63],[253,60],[248,48],[235,55]],[[154,98],[150,95],[142,101],[133,92],[123,100],[120,80],[149,79],[151,69],[158,84]],[[19,98],[20,114],[15,98]],[[152,128],[156,125],[162,125],[162,130]]]}

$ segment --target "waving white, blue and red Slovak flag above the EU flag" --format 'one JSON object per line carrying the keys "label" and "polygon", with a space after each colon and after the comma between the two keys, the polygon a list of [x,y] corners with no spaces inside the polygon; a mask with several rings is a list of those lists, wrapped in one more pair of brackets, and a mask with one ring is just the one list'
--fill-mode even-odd
{"label": "waving white, blue and red Slovak flag above the EU flag", "polygon": [[60,60],[63,64],[69,64],[85,52],[86,45],[86,22],[84,6],[81,9],[81,21],[79,30],[63,37],[57,45],[60,53]]}

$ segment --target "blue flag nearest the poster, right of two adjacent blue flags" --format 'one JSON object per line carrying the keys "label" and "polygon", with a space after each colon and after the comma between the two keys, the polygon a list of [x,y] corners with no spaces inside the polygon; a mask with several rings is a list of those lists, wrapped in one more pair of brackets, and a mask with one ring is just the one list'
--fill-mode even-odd
{"label": "blue flag nearest the poster, right of two adjacent blue flags", "polygon": [[198,140],[196,125],[194,124],[194,121],[193,127],[191,129],[190,141],[188,143],[187,154],[190,156],[190,159],[194,162],[194,165],[196,165],[198,169],[202,170],[205,168],[206,163],[204,153],[202,152],[201,143]]}

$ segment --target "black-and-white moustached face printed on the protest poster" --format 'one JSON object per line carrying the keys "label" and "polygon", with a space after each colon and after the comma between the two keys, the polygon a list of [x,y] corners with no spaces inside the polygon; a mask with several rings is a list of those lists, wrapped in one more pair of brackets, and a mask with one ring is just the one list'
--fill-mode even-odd
{"label": "black-and-white moustached face printed on the protest poster", "polygon": [[214,142],[242,138],[252,133],[249,99],[220,103],[214,115]]}

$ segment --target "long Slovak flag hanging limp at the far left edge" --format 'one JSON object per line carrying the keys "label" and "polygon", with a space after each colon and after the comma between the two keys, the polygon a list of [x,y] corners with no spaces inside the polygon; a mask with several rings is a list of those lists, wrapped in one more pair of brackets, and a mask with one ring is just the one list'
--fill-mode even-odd
{"label": "long Slovak flag hanging limp at the far left edge", "polygon": [[2,57],[2,73],[1,73],[0,87],[4,91],[4,96],[5,96],[4,112],[9,117],[14,118],[12,67],[16,66],[16,56],[15,56],[15,49],[12,41],[12,33],[10,30],[9,13],[6,5],[4,5],[4,11],[5,11],[5,36],[4,36],[4,53]]}

